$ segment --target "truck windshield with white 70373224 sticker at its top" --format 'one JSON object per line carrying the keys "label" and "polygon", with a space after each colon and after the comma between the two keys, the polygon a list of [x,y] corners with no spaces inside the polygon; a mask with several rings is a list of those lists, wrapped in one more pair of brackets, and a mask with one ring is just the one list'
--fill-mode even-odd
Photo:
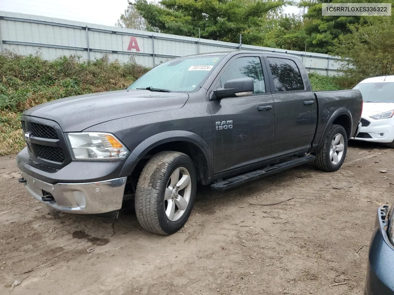
{"label": "truck windshield with white 70373224 sticker at its top", "polygon": [[224,55],[181,57],[158,65],[127,89],[152,87],[172,92],[193,91]]}

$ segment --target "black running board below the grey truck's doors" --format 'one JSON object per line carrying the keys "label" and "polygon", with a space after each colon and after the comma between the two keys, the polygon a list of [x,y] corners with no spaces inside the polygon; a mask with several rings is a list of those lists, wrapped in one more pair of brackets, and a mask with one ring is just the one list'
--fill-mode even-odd
{"label": "black running board below the grey truck's doors", "polygon": [[267,166],[263,169],[251,171],[245,174],[241,174],[238,176],[234,176],[228,179],[221,180],[217,183],[211,184],[211,188],[214,190],[228,190],[229,188],[233,188],[234,186],[238,186],[240,184],[247,183],[249,181],[253,181],[255,179],[266,177],[268,175],[287,170],[289,168],[293,168],[305,163],[312,162],[316,159],[313,155],[307,155],[301,158],[292,159],[286,162],[281,162],[275,165]]}

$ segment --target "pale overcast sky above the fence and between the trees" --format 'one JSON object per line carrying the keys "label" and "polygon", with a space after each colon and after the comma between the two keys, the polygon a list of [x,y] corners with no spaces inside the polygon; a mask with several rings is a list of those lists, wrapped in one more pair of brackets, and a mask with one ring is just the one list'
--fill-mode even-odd
{"label": "pale overcast sky above the fence and between the trees", "polygon": [[[149,1],[150,2],[150,1]],[[0,0],[0,10],[114,26],[128,0]],[[298,13],[298,7],[284,13]]]}

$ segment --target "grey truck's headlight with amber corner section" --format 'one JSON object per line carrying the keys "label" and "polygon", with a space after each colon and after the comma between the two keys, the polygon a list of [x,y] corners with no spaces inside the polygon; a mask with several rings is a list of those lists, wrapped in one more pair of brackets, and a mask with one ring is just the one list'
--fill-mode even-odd
{"label": "grey truck's headlight with amber corner section", "polygon": [[110,133],[67,133],[76,160],[124,159],[128,149]]}

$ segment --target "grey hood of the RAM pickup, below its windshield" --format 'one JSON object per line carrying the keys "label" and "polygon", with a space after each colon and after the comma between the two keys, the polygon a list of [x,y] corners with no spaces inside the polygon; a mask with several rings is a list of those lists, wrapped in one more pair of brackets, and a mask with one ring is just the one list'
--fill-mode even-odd
{"label": "grey hood of the RAM pickup, below its windshield", "polygon": [[23,114],[57,122],[63,132],[78,132],[110,120],[178,109],[186,93],[119,90],[62,98],[37,105]]}

